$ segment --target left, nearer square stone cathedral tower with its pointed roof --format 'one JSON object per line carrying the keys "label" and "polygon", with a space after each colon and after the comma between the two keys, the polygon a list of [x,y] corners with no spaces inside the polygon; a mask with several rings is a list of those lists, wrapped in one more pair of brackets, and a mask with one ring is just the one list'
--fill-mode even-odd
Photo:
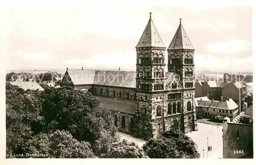
{"label": "left, nearer square stone cathedral tower with its pointed roof", "polygon": [[[136,46],[136,114],[134,134],[150,139],[156,132],[155,118],[163,116],[165,90],[165,45],[152,20]],[[162,125],[164,126],[164,125]]]}

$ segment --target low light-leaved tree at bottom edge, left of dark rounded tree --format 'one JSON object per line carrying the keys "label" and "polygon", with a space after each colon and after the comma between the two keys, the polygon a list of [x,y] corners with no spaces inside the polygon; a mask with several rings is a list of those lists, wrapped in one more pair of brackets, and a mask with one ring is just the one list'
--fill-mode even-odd
{"label": "low light-leaved tree at bottom edge, left of dark rounded tree", "polygon": [[146,158],[143,149],[134,142],[123,140],[111,145],[104,158]]}

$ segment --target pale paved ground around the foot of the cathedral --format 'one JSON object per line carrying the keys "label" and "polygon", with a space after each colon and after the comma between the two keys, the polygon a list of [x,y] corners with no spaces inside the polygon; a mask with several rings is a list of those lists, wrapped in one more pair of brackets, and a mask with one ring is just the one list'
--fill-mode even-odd
{"label": "pale paved ground around the foot of the cathedral", "polygon": [[[142,147],[146,141],[137,139],[129,134],[119,132],[121,139],[135,142],[138,146]],[[212,146],[212,151],[208,152],[208,158],[222,158],[222,126],[215,126],[205,123],[198,123],[198,131],[186,133],[198,145],[198,152],[201,158],[207,158],[207,136],[208,145]],[[204,152],[203,152],[204,149]]]}

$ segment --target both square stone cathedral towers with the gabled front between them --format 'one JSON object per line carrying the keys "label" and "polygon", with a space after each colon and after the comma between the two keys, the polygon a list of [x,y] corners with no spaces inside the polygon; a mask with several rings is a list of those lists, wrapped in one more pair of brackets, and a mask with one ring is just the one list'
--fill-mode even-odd
{"label": "both square stone cathedral towers with the gabled front between them", "polygon": [[186,133],[197,130],[195,112],[194,47],[185,33],[181,19],[167,48],[152,20],[136,46],[135,132],[149,139],[164,130],[176,128]]}

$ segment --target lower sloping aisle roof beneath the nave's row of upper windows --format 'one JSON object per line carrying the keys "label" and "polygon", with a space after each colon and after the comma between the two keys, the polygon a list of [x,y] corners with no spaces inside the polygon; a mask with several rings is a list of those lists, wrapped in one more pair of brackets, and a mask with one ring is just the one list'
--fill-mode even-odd
{"label": "lower sloping aisle roof beneath the nave's row of upper windows", "polygon": [[118,98],[97,96],[103,106],[108,109],[128,113],[135,114],[136,111],[136,102],[133,100],[122,100]]}

